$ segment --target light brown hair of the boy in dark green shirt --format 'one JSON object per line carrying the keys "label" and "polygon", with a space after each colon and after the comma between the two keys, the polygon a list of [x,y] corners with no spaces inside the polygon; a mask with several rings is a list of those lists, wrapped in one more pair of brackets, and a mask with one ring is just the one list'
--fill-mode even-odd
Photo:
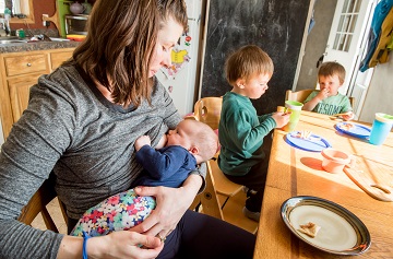
{"label": "light brown hair of the boy in dark green shirt", "polygon": [[274,64],[269,55],[255,45],[247,45],[231,54],[225,62],[226,79],[234,84],[257,74],[273,74]]}

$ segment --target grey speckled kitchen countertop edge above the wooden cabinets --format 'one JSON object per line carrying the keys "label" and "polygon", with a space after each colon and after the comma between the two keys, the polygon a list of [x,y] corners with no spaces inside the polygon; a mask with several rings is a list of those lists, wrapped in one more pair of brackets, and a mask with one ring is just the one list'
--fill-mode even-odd
{"label": "grey speckled kitchen countertop edge above the wooden cabinets", "polygon": [[58,48],[74,48],[80,42],[73,40],[53,40],[53,42],[34,42],[34,43],[15,43],[15,44],[0,44],[0,54],[8,52],[22,52],[22,51],[35,51],[35,50],[47,50]]}

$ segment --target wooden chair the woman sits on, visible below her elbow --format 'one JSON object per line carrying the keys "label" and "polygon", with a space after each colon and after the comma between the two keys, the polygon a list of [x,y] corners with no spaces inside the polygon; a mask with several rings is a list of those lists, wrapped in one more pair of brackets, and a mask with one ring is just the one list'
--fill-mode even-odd
{"label": "wooden chair the woman sits on, visible below her elbow", "polygon": [[[55,190],[55,178],[49,177],[45,180],[39,189],[34,193],[28,203],[22,209],[22,212],[17,220],[27,225],[31,225],[34,219],[41,213],[45,225],[48,229],[59,233],[52,217],[50,216],[46,205],[57,197]],[[59,207],[61,209],[64,222],[67,223],[67,214],[63,205],[59,201]]]}

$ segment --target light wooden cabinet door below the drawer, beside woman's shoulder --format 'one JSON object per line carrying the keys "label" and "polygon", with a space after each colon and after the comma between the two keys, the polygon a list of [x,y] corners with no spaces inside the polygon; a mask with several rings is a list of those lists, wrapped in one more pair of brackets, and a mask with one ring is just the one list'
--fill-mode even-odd
{"label": "light wooden cabinet door below the drawer, beside woman's shoulder", "polygon": [[10,102],[12,108],[13,121],[21,118],[23,110],[27,108],[29,87],[37,83],[40,74],[32,74],[23,78],[8,80]]}

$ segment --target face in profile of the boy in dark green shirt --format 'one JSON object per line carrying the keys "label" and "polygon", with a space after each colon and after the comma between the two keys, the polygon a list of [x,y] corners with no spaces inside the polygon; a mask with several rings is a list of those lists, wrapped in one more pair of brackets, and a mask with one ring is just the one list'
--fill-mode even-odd
{"label": "face in profile of the boy in dark green shirt", "polygon": [[248,96],[251,99],[258,99],[261,97],[266,90],[269,89],[267,82],[271,79],[270,74],[257,74],[251,76],[248,80],[239,79],[235,87],[235,93]]}

